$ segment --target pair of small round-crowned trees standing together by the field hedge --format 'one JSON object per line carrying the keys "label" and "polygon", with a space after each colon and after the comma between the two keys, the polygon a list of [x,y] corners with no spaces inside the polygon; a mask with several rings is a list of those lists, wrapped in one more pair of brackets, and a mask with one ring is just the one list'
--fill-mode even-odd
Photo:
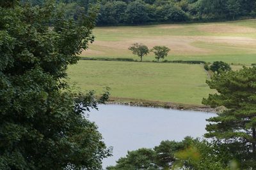
{"label": "pair of small round-crowned trees standing together by the field hedge", "polygon": [[168,52],[170,52],[170,48],[166,46],[154,46],[149,50],[148,46],[141,43],[134,43],[128,49],[131,50],[134,55],[138,55],[138,57],[140,57],[140,61],[142,61],[143,56],[148,55],[149,52],[153,52],[157,62],[159,62],[159,59],[164,59],[164,57],[168,55]]}

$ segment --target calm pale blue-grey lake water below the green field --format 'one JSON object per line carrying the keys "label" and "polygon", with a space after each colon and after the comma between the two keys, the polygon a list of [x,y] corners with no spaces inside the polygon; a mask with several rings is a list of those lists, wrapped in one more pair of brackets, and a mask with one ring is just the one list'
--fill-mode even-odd
{"label": "calm pale blue-grey lake water below the green field", "polygon": [[113,146],[113,157],[103,167],[113,166],[128,150],[153,148],[163,140],[181,141],[186,136],[202,137],[207,118],[214,113],[144,108],[116,104],[100,105],[89,119],[95,122],[106,145]]}

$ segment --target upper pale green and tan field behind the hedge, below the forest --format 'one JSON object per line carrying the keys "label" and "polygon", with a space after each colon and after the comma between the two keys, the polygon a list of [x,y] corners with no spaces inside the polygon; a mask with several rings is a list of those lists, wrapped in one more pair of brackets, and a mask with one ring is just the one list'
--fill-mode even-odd
{"label": "upper pale green and tan field behind the hedge, below the forest", "polygon": [[[256,20],[205,24],[163,24],[97,27],[95,42],[81,56],[138,59],[127,48],[144,43],[171,48],[167,60],[223,60],[233,64],[256,62]],[[150,53],[144,60],[154,60]]]}

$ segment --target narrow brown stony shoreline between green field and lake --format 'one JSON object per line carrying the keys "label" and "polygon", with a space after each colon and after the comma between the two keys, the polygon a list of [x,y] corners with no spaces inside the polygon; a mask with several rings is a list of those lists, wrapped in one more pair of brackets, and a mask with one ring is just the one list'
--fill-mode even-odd
{"label": "narrow brown stony shoreline between green field and lake", "polygon": [[106,104],[118,104],[125,106],[139,106],[147,108],[165,108],[173,110],[188,110],[188,111],[203,111],[209,113],[217,113],[218,108],[211,108],[210,106],[196,105],[196,104],[182,104],[182,103],[171,103],[163,101],[148,101],[142,99],[130,99],[123,97],[110,97]]}

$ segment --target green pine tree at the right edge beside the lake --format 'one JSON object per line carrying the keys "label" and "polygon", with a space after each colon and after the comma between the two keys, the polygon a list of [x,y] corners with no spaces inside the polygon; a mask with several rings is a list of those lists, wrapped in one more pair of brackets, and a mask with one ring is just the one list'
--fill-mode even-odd
{"label": "green pine tree at the right edge beside the lake", "polygon": [[221,139],[236,148],[242,166],[255,166],[256,158],[256,67],[223,72],[207,84],[218,94],[210,94],[204,104],[224,106],[218,117],[210,118],[207,138]]}

